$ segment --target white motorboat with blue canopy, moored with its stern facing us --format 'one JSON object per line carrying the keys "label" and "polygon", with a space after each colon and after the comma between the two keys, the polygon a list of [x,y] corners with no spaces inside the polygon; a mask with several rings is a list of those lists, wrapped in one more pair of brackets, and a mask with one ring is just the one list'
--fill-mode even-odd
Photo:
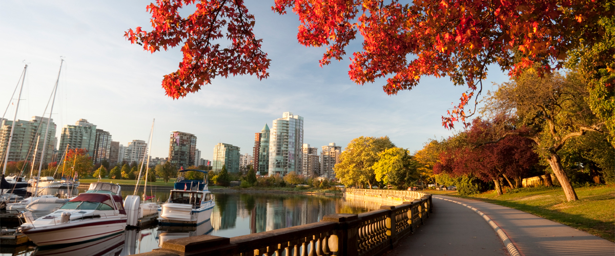
{"label": "white motorboat with blue canopy, moored with its stern facing us", "polygon": [[[179,173],[186,171],[207,173],[202,170],[181,170]],[[159,225],[197,226],[211,219],[215,202],[205,180],[207,178],[175,182],[169,200],[158,208]]]}

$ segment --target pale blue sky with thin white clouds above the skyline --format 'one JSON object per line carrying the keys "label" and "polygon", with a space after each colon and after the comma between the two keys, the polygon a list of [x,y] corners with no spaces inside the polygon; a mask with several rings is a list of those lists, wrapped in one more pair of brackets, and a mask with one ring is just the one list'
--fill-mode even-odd
{"label": "pale blue sky with thin white clouds above the skyline", "polygon": [[[10,95],[25,63],[17,118],[43,114],[63,56],[52,113],[58,139],[64,125],[84,118],[122,145],[148,141],[155,118],[151,157],[168,157],[170,131],[183,131],[197,136],[201,157],[211,160],[218,142],[252,155],[254,134],[265,123],[271,128],[283,112],[304,118],[303,142],[319,152],[330,142],[345,148],[359,136],[389,136],[397,147],[414,152],[429,139],[455,132],[442,126],[441,117],[467,87],[455,87],[448,78],[423,77],[413,90],[389,96],[384,79],[357,85],[347,74],[351,55],[320,68],[324,49],[300,45],[298,18],[272,12],[273,1],[246,1],[255,15],[256,37],[263,39],[272,60],[268,79],[218,77],[197,93],[173,100],[165,96],[161,81],[177,70],[180,49],[151,54],[124,37],[129,28],[151,30],[145,9],[150,2],[1,1],[0,111],[10,106],[5,118],[14,115]],[[346,52],[360,47],[354,41]],[[485,90],[507,79],[490,67]]]}

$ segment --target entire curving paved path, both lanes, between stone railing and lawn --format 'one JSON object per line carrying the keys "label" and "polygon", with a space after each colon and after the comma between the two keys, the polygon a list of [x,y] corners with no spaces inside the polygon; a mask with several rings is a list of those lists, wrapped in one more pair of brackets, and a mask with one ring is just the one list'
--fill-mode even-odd
{"label": "entire curving paved path, both lanes, between stone railing and lawn", "polygon": [[[512,242],[514,247],[510,251],[515,255],[615,255],[615,243],[536,215],[476,200],[443,195],[433,198],[434,214],[426,225],[400,241],[400,246],[389,255],[508,254],[487,220],[506,235],[505,242]],[[474,236],[477,238],[471,241]],[[493,249],[493,239],[499,242],[498,252]]]}

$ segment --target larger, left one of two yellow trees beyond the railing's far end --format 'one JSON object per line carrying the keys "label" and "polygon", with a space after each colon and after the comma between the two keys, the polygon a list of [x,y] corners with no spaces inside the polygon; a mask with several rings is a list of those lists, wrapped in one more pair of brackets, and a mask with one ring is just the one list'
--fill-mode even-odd
{"label": "larger, left one of two yellow trees beyond the railing's far end", "polygon": [[347,187],[365,185],[371,188],[376,182],[373,168],[378,161],[378,153],[395,147],[389,137],[359,137],[352,139],[346,150],[339,156],[340,162],[333,167],[335,176]]}

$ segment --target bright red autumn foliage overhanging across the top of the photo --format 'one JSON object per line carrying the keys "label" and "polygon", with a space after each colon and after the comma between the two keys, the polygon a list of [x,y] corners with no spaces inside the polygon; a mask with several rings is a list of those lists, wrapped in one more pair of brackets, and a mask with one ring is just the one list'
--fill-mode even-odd
{"label": "bright red autumn foliage overhanging across the top of the photo", "polygon": [[[196,11],[181,17],[179,10],[189,4]],[[389,95],[410,90],[424,76],[466,85],[458,106],[443,117],[447,127],[465,122],[464,107],[480,94],[489,64],[511,75],[535,63],[540,71],[560,68],[568,50],[599,41],[604,33],[598,20],[613,15],[612,3],[595,0],[275,0],[272,9],[299,16],[301,44],[327,47],[321,65],[341,60],[360,33],[363,49],[353,53],[349,71],[356,83],[388,77],[383,88]],[[216,76],[268,77],[270,60],[243,0],[157,0],[147,10],[153,30],[137,27],[125,36],[152,53],[183,44],[179,69],[162,80],[170,97],[198,91]],[[222,38],[231,45],[215,43]]]}

